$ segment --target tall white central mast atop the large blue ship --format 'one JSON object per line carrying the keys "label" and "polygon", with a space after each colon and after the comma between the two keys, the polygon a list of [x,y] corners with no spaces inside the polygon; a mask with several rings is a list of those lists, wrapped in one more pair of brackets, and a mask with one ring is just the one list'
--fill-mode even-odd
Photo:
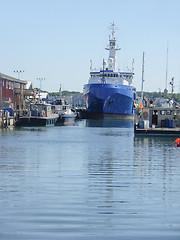
{"label": "tall white central mast atop the large blue ship", "polygon": [[116,38],[115,38],[115,24],[114,22],[111,24],[112,35],[109,38],[109,45],[106,50],[109,50],[109,58],[108,58],[108,70],[116,69],[116,51],[120,50],[120,48],[116,48]]}

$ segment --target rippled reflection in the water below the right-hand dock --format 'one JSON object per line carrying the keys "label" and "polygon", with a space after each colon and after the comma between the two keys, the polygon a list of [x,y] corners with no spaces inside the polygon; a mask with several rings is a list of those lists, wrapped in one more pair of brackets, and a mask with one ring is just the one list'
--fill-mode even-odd
{"label": "rippled reflection in the water below the right-hand dock", "polygon": [[[173,137],[135,137],[134,175],[139,178],[141,196],[149,198],[158,212],[169,215],[170,202],[179,194],[180,150],[174,147]],[[170,214],[171,215],[171,214]]]}

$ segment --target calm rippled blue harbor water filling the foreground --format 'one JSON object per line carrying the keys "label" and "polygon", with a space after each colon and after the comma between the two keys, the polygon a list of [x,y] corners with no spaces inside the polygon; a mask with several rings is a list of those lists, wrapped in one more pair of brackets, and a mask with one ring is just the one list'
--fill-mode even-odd
{"label": "calm rippled blue harbor water filling the foreground", "polygon": [[133,122],[0,132],[0,239],[179,240],[176,137]]}

